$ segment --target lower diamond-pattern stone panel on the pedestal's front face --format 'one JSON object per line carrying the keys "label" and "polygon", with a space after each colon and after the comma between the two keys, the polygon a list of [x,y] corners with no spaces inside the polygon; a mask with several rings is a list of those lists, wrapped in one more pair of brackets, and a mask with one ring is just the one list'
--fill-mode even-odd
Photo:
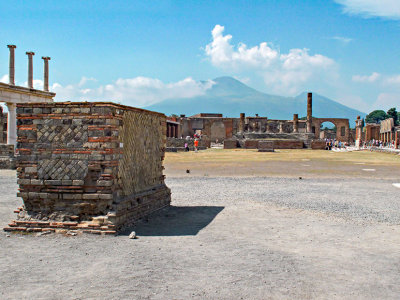
{"label": "lower diamond-pattern stone panel on the pedestal's front face", "polygon": [[45,180],[83,180],[88,162],[83,160],[43,159],[38,164],[38,176]]}

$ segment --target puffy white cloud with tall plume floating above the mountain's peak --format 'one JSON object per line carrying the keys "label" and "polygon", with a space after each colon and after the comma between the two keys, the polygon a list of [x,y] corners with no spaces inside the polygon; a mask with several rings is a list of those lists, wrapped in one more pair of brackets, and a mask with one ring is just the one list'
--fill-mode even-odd
{"label": "puffy white cloud with tall plume floating above the mountain's peak", "polygon": [[211,31],[212,41],[205,47],[211,63],[237,73],[255,71],[274,92],[294,95],[312,80],[329,82],[335,76],[336,64],[331,58],[310,55],[308,49],[291,49],[284,54],[267,42],[251,48],[244,43],[235,47],[232,35],[224,35],[224,29],[216,25]]}

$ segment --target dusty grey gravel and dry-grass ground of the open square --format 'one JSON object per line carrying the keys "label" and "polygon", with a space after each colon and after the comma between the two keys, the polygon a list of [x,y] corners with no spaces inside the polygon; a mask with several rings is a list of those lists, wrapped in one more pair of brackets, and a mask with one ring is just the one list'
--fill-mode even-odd
{"label": "dusty grey gravel and dry-grass ground of the open square", "polygon": [[[0,298],[399,299],[399,170],[379,153],[168,153],[173,206],[139,239],[0,234]],[[1,226],[16,189],[0,171]]]}

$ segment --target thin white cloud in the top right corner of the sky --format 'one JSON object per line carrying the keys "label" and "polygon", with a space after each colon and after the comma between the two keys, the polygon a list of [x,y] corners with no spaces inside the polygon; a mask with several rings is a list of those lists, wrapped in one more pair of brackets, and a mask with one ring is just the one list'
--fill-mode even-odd
{"label": "thin white cloud in the top right corner of the sky", "polygon": [[335,0],[348,14],[400,19],[399,0]]}

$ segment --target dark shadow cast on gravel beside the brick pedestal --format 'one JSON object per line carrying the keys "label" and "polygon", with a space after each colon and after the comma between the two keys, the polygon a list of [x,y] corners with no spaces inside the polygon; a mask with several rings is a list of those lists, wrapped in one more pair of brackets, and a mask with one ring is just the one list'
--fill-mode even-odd
{"label": "dark shadow cast on gravel beside the brick pedestal", "polygon": [[122,234],[134,230],[138,236],[196,235],[223,209],[223,206],[170,206],[139,221]]}

